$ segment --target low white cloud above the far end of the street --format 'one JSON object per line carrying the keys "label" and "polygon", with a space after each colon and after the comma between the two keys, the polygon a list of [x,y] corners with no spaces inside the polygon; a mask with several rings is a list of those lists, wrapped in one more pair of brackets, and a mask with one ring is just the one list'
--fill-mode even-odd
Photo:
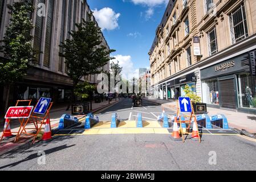
{"label": "low white cloud above the far end of the street", "polygon": [[134,68],[134,64],[131,56],[116,55],[113,57],[115,57],[115,59],[113,59],[112,61],[114,63],[117,63],[117,61],[119,61],[120,67],[123,67],[122,74],[124,77],[126,78],[139,77],[139,69]]}

